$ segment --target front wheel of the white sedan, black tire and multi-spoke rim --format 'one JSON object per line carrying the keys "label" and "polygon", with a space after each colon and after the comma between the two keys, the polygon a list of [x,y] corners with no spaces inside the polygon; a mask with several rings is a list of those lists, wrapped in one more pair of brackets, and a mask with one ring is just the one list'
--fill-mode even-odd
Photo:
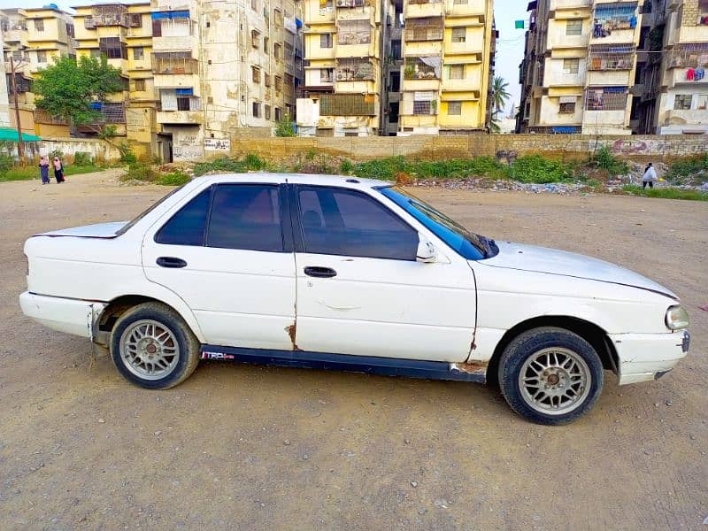
{"label": "front wheel of the white sedan, black tire and multi-spoke rim", "polygon": [[519,335],[499,359],[499,387],[521,417],[536,424],[568,424],[589,412],[604,386],[600,357],[589,342],[564,328]]}

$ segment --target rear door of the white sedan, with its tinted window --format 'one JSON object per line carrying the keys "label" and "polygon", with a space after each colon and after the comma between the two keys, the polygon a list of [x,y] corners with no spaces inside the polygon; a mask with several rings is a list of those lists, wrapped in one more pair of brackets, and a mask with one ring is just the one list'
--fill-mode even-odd
{"label": "rear door of the white sedan, with its tinted window", "polygon": [[282,188],[212,185],[145,235],[147,278],[184,299],[207,343],[293,349],[295,258]]}

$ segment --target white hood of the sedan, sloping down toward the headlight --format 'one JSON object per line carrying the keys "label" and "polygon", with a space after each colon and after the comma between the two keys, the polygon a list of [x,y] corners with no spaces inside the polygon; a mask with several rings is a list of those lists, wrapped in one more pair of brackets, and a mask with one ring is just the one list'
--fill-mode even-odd
{"label": "white hood of the sedan, sloping down toward the headlight", "polygon": [[486,266],[504,267],[535,273],[559,274],[591,281],[611,282],[622,286],[648,289],[678,300],[678,296],[661,284],[639,273],[615,266],[596,258],[589,258],[565,250],[548,249],[536,245],[496,242],[499,253],[481,260]]}

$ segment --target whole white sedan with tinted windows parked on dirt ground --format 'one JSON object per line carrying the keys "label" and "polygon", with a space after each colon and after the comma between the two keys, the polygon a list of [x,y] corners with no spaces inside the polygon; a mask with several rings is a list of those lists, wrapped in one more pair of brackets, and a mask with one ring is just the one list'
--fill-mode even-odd
{"label": "whole white sedan with tinted windows parked on dirt ground", "polygon": [[27,240],[22,311],[148,389],[199,359],[499,382],[543,424],[689,349],[678,298],[593,258],[473,234],[405,189],[297,174],[190,181],[129,223]]}

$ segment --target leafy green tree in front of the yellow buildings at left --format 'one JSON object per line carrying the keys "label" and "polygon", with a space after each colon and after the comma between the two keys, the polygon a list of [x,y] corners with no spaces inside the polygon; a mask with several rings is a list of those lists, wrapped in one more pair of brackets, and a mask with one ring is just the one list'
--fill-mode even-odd
{"label": "leafy green tree in front of the yellow buildings at left", "polygon": [[72,126],[88,125],[101,116],[91,104],[123,89],[120,71],[109,65],[105,57],[83,57],[78,62],[62,57],[37,73],[35,104]]}

